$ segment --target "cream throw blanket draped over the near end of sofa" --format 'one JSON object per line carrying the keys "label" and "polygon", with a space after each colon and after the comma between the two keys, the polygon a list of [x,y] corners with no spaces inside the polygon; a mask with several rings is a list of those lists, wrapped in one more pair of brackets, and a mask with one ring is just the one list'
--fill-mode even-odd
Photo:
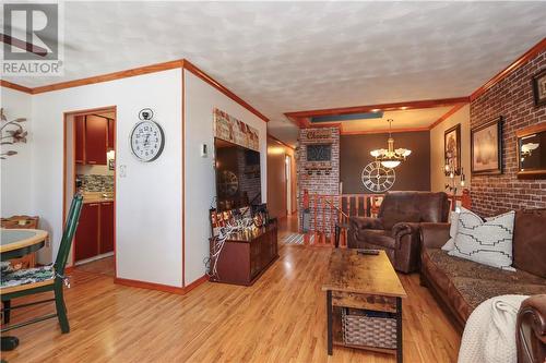
{"label": "cream throw blanket draped over the near end of sofa", "polygon": [[484,301],[464,327],[459,363],[515,363],[515,319],[525,295],[501,295]]}

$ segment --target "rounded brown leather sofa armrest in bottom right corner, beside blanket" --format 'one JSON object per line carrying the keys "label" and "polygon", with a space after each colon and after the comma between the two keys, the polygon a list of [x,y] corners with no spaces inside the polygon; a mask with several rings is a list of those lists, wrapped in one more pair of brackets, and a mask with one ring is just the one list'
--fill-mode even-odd
{"label": "rounded brown leather sofa armrest in bottom right corner, beside blanket", "polygon": [[546,294],[521,303],[515,335],[519,363],[546,361]]}

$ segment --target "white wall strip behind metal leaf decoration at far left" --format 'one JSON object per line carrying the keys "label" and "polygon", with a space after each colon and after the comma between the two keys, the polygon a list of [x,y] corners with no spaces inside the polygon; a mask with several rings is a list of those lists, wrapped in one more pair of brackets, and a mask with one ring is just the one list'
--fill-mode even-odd
{"label": "white wall strip behind metal leaf decoration at far left", "polygon": [[2,150],[15,150],[19,154],[0,160],[1,189],[0,189],[0,215],[10,217],[13,215],[29,215],[33,213],[32,203],[32,146],[33,146],[33,120],[32,120],[32,96],[19,90],[0,87],[0,102],[4,109],[8,120],[26,118],[23,128],[28,131],[26,144],[4,145]]}

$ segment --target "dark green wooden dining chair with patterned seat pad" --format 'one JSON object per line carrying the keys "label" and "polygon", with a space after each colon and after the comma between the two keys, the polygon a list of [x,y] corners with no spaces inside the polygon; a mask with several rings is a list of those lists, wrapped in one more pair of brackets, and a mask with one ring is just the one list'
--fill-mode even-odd
{"label": "dark green wooden dining chair with patterned seat pad", "polygon": [[[64,231],[62,233],[59,252],[57,253],[57,258],[55,259],[54,265],[28,268],[28,269],[20,269],[12,273],[10,271],[2,273],[0,298],[3,303],[3,308],[1,310],[1,312],[4,318],[4,324],[10,323],[10,312],[14,308],[21,308],[55,301],[57,313],[40,316],[24,323],[9,325],[7,327],[3,327],[1,329],[1,332],[20,328],[29,324],[43,322],[54,317],[59,318],[59,324],[61,326],[62,332],[70,331],[62,287],[64,282],[68,281],[67,277],[64,277],[64,267],[67,266],[67,259],[70,252],[70,246],[72,244],[72,240],[75,230],[78,228],[78,221],[80,219],[80,211],[82,210],[82,204],[83,204],[83,196],[81,194],[74,195],[72,204],[70,205],[70,210],[68,214],[67,223],[64,226]],[[12,299],[32,295],[35,293],[48,292],[48,291],[52,291],[55,293],[54,299],[47,299],[37,302],[21,304],[17,306],[11,306]]]}

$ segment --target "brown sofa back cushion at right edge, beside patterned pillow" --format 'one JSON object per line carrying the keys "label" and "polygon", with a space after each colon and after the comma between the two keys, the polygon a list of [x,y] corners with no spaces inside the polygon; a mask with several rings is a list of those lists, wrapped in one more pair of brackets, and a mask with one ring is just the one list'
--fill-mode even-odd
{"label": "brown sofa back cushion at right edge, beside patterned pillow", "polygon": [[546,209],[518,210],[513,266],[546,278]]}

